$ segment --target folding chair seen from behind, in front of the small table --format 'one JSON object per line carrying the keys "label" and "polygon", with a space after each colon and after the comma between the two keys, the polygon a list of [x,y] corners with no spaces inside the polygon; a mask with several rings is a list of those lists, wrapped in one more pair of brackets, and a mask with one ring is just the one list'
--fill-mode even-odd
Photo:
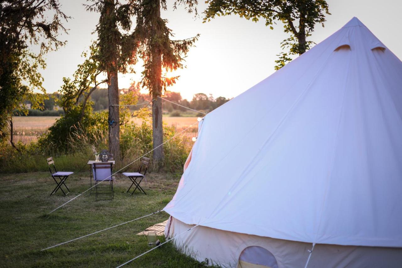
{"label": "folding chair seen from behind, in front of the small table", "polygon": [[[113,180],[112,177],[113,163],[94,163],[94,181],[95,181],[95,201],[112,200]],[[100,196],[107,195],[107,196]]]}

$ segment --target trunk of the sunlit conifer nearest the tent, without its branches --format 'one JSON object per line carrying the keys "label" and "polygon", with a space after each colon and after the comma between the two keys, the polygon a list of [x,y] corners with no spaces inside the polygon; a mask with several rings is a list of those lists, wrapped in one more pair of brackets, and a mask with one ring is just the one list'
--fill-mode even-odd
{"label": "trunk of the sunlit conifer nearest the tent, without its branches", "polygon": [[[160,0],[155,0],[156,16],[160,18]],[[158,25],[153,25],[154,34],[159,33]],[[152,50],[152,72],[154,81],[152,82],[152,138],[153,138],[153,163],[154,168],[160,169],[163,164],[163,128],[162,128],[162,53],[158,47]],[[159,147],[158,147],[159,146]],[[158,147],[158,148],[157,148]]]}

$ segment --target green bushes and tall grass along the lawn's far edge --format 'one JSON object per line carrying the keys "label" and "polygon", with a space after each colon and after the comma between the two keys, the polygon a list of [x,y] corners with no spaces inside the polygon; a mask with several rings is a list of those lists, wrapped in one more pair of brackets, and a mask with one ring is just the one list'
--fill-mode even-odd
{"label": "green bushes and tall grass along the lawn's far edge", "polygon": [[[80,111],[70,111],[68,115],[58,119],[49,130],[39,137],[37,142],[17,146],[22,152],[17,152],[10,144],[0,146],[1,172],[29,172],[47,171],[45,159],[52,156],[60,169],[71,171],[81,170],[89,158],[92,157],[92,148],[97,152],[108,145],[107,111],[93,113],[92,108],[85,111],[81,123],[78,123]],[[189,130],[193,131],[193,130]],[[195,129],[197,132],[197,129]],[[164,140],[176,135],[173,126],[164,126]],[[191,150],[190,138],[185,134],[176,136],[164,144],[163,169],[170,173],[181,173],[183,165]],[[120,126],[121,161],[116,162],[115,171],[132,163],[152,150],[152,126],[144,121],[142,124],[130,122]],[[151,159],[152,153],[146,155]],[[127,167],[135,170],[139,161]],[[150,165],[152,171],[152,165]]]}

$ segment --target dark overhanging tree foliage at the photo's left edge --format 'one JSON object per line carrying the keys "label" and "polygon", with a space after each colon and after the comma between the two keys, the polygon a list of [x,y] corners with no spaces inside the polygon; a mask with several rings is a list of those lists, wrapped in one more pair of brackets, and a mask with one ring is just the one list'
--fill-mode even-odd
{"label": "dark overhanging tree foliage at the photo's left edge", "polygon": [[[30,99],[34,107],[43,103],[44,96],[31,94],[34,89],[44,92],[37,70],[45,67],[45,52],[64,45],[57,35],[66,32],[61,21],[68,16],[58,0],[1,0],[0,7],[0,140],[4,140],[7,121],[23,99]],[[40,45],[39,55],[27,50],[29,43]]]}

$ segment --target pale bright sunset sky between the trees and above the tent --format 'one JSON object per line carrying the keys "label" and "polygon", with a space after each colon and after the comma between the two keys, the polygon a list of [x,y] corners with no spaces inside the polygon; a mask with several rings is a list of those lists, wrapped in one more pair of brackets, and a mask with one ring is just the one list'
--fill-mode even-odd
{"label": "pale bright sunset sky between the trees and above the tent", "polygon": [[[88,49],[96,35],[92,34],[99,14],[87,12],[82,6],[85,0],[60,0],[62,10],[71,16],[64,25],[70,29],[60,39],[67,45],[46,56],[47,68],[41,71],[48,93],[58,91],[63,77],[71,77],[82,63],[81,54]],[[188,14],[183,7],[173,10],[172,0],[167,0],[168,10],[162,11],[162,19],[168,20],[176,39],[185,39],[199,33],[196,47],[190,49],[186,68],[172,75],[180,75],[170,91],[180,92],[183,98],[192,99],[196,93],[213,97],[236,97],[259,81],[275,72],[275,60],[281,52],[280,42],[288,35],[278,23],[270,30],[264,21],[257,23],[236,15],[217,17],[202,23],[202,11],[206,8],[199,0],[199,18]],[[324,40],[345,25],[353,16],[365,24],[398,58],[402,59],[402,32],[400,10],[402,1],[395,0],[327,0],[331,15],[326,16],[325,27],[316,25],[309,40]],[[141,80],[142,66],[135,66],[136,74],[119,75],[119,88],[128,88],[133,81]],[[106,85],[104,86],[106,87]],[[146,89],[144,89],[144,93]]]}

